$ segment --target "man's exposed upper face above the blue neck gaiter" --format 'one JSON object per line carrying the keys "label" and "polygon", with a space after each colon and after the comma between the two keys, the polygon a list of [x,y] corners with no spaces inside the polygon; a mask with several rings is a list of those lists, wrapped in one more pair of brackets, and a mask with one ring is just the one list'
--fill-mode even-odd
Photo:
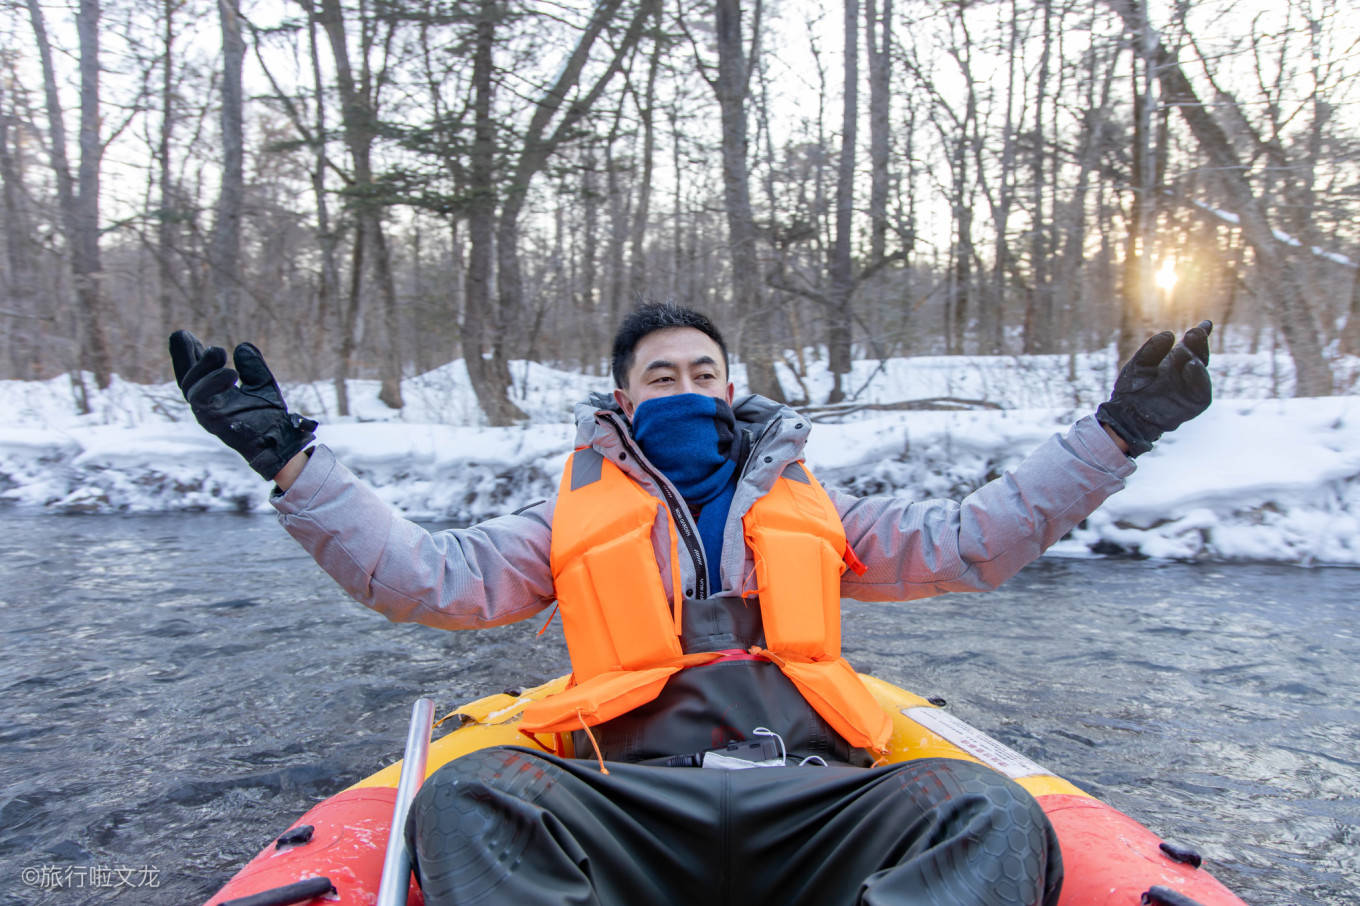
{"label": "man's exposed upper face above the blue neck gaiter", "polygon": [[700,393],[732,404],[732,384],[722,365],[722,348],[703,331],[666,328],[638,341],[628,369],[628,388],[613,399],[630,419],[646,400],[676,393]]}

